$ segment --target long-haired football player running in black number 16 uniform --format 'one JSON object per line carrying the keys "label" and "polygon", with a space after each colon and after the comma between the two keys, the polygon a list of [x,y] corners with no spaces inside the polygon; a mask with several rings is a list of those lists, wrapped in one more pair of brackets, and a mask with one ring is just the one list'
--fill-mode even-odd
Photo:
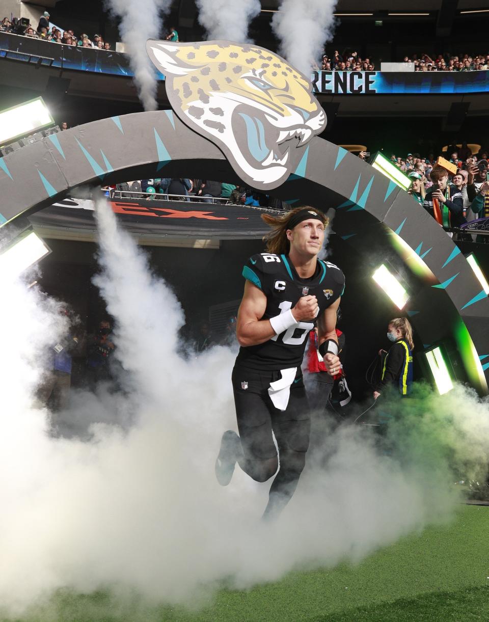
{"label": "long-haired football player running in black number 16 uniform", "polygon": [[276,474],[264,512],[274,518],[305,465],[310,414],[300,365],[316,323],[328,373],[340,369],[335,327],[345,277],[317,259],[328,225],[322,211],[300,207],[262,218],[271,226],[267,251],[243,267],[245,293],[236,323],[241,348],[232,381],[240,435],[223,434],[215,470],[222,486],[230,483],[236,462],[255,481]]}

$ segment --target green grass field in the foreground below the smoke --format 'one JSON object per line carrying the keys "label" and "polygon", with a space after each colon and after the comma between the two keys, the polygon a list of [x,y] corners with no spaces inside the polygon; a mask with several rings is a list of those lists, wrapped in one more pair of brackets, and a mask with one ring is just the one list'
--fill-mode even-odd
{"label": "green grass field in the foreground below the smoke", "polygon": [[22,622],[489,620],[488,536],[489,507],[460,506],[451,524],[406,537],[361,564],[295,572],[247,592],[221,590],[200,611],[63,592]]}

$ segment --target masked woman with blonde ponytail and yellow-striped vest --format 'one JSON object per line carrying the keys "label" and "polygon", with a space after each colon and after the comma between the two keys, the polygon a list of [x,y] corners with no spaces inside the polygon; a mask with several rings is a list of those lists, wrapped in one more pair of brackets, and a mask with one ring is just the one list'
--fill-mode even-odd
{"label": "masked woman with blonde ponytail and yellow-striped vest", "polygon": [[[381,379],[373,392],[377,399],[390,384],[399,387],[401,396],[407,396],[412,384],[412,327],[405,317],[395,318],[389,322],[387,338],[393,345],[386,353]],[[383,353],[381,350],[380,353]]]}

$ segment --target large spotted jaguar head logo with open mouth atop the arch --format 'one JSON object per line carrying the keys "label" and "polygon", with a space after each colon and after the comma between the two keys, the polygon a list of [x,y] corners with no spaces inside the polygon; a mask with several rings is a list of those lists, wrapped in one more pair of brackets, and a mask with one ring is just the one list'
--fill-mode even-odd
{"label": "large spotted jaguar head logo with open mouth atop the arch", "polygon": [[254,188],[281,185],[304,154],[301,147],[325,128],[310,80],[273,52],[229,41],[151,39],[146,49],[165,75],[175,113],[214,142]]}

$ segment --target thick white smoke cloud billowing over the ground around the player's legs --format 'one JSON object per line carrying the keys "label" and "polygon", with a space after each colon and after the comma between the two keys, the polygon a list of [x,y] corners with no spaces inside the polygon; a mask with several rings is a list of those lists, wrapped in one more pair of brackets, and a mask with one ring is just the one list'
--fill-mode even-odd
{"label": "thick white smoke cloud billowing over the ground around the player's legs", "polygon": [[[67,329],[57,305],[34,288],[0,282],[0,613],[16,615],[61,587],[111,586],[126,598],[135,592],[198,605],[203,590],[224,580],[246,588],[298,566],[356,561],[450,518],[457,498],[421,452],[401,464],[358,427],[328,435],[316,453],[330,453],[325,470],[313,468],[311,454],[273,524],[259,520],[269,483],[253,483],[236,467],[231,484],[218,486],[221,433],[235,429],[234,355],[216,347],[181,356],[184,317],[174,292],[105,203],[96,215],[96,283],[115,318],[124,386],[112,395],[73,391],[57,421],[75,432],[90,425],[89,440],[52,437],[50,414],[34,399],[42,353]],[[457,388],[427,407],[430,429],[454,430],[445,434],[450,447],[460,430],[459,460],[473,447],[485,459],[487,403]],[[423,423],[417,417],[420,438]]]}

